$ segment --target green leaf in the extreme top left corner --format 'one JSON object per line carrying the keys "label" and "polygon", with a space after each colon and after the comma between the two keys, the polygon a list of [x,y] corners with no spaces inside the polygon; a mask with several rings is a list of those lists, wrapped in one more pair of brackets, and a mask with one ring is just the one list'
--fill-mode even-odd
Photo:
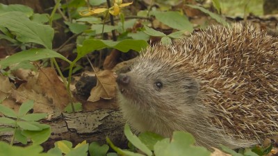
{"label": "green leaf in the extreme top left corner", "polygon": [[5,13],[5,12],[12,12],[12,11],[22,12],[27,17],[31,17],[31,15],[33,15],[33,9],[28,6],[24,6],[21,4],[5,5],[3,3],[0,3],[0,14]]}

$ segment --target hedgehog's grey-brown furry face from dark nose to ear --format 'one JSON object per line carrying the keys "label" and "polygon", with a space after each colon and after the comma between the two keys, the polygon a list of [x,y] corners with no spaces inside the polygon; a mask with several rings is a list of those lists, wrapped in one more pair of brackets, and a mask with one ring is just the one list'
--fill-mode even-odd
{"label": "hedgehog's grey-brown furry face from dark nose to ear", "polygon": [[181,71],[177,70],[161,64],[161,60],[141,58],[129,73],[117,77],[120,94],[138,110],[152,113],[173,108],[182,110],[186,105],[191,109],[199,85],[193,78],[181,76]]}

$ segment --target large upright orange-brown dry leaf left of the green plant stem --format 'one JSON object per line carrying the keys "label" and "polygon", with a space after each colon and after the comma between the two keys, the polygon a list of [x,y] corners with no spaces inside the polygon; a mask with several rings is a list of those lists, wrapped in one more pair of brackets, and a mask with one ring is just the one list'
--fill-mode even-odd
{"label": "large upright orange-brown dry leaf left of the green plant stem", "polygon": [[67,89],[53,68],[41,69],[37,84],[42,88],[42,94],[51,98],[61,110],[70,102]]}

